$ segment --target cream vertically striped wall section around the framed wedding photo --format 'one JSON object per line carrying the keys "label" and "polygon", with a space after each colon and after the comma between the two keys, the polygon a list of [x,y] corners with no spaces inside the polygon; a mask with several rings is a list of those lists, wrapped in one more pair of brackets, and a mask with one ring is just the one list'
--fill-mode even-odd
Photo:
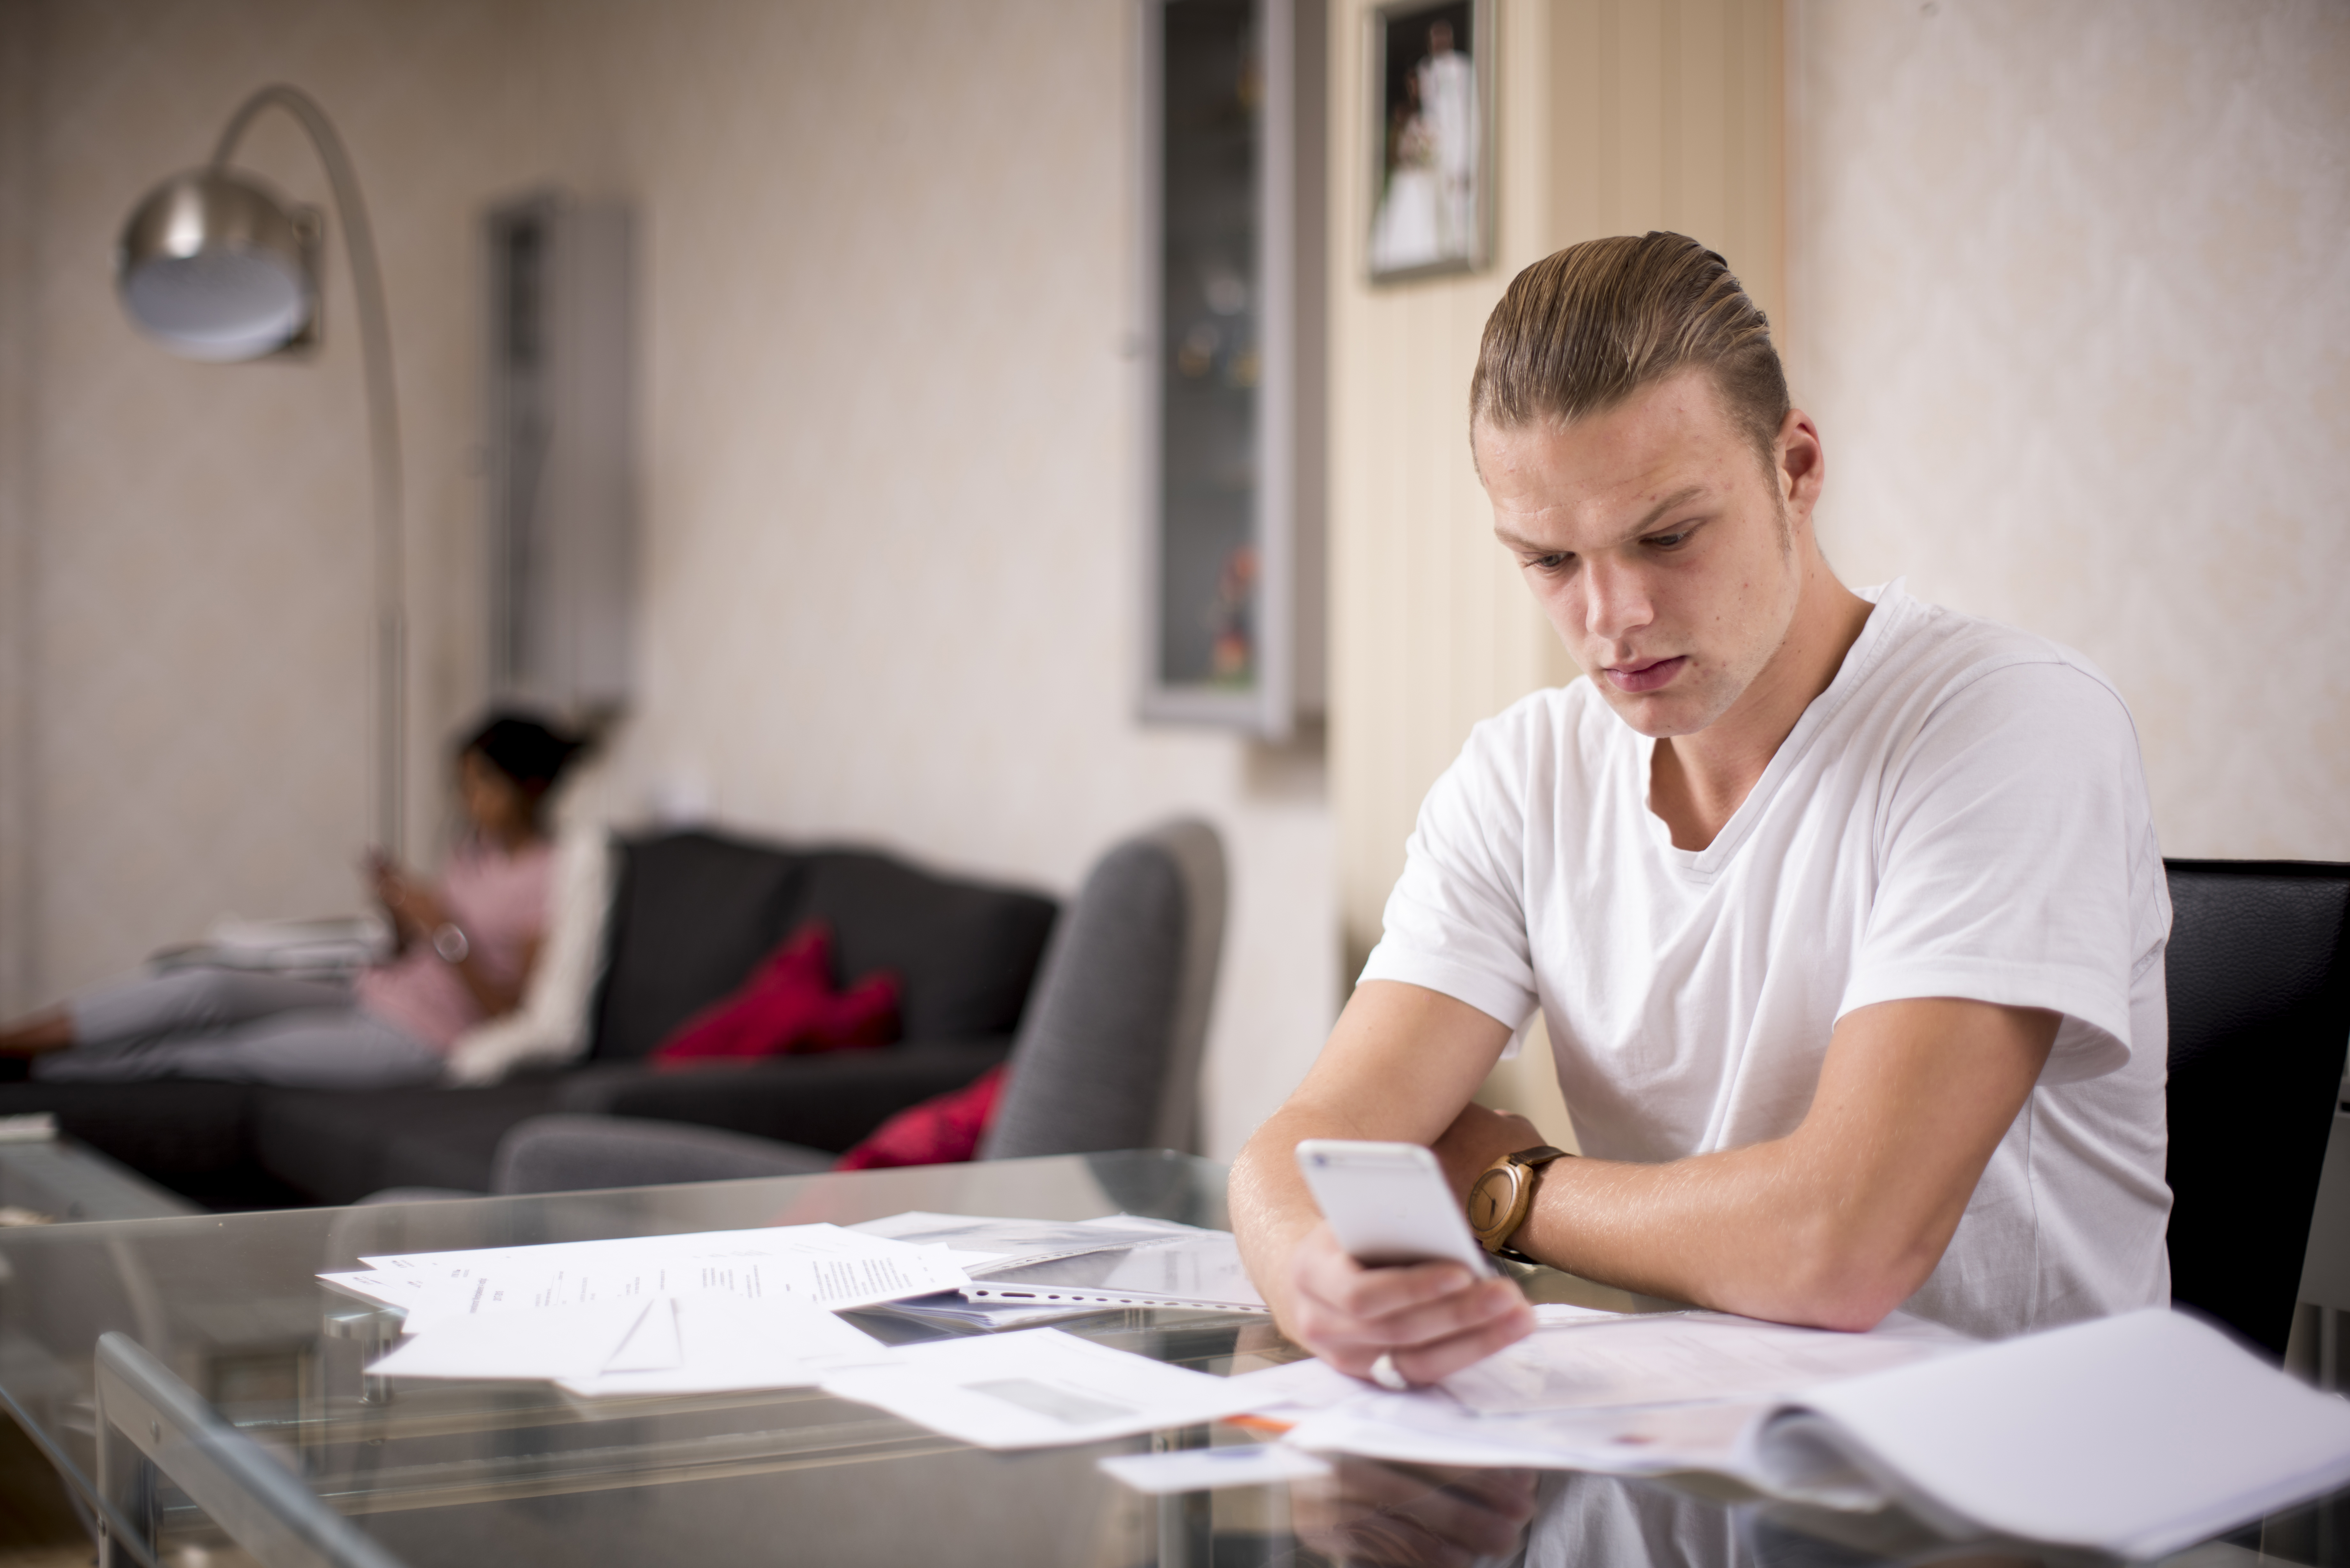
{"label": "cream vertically striped wall section around the framed wedding photo", "polygon": [[[1403,842],[1469,726],[1572,679],[1492,543],[1466,400],[1485,315],[1560,244],[1678,228],[1779,315],[1777,0],[1499,0],[1499,259],[1485,273],[1363,277],[1370,158],[1361,0],[1332,47],[1332,809],[1349,980],[1379,936]],[[1572,1138],[1539,1030],[1485,1098]]]}

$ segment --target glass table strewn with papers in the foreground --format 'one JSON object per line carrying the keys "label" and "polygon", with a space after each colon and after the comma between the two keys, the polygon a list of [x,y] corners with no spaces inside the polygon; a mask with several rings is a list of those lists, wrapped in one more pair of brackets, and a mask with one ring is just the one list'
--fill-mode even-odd
{"label": "glass table strewn with papers in the foreground", "polygon": [[[0,1232],[0,1403],[59,1467],[103,1561],[273,1566],[1821,1563],[2077,1561],[1958,1549],[1899,1514],[1817,1514],[1720,1483],[1340,1462],[1292,1486],[1144,1497],[1109,1453],[1260,1441],[1236,1425],[987,1453],[813,1389],[580,1401],[526,1382],[385,1382],[388,1309],[320,1269],[362,1255],[855,1222],[931,1208],[1224,1222],[1224,1168],[1088,1154],[914,1171],[110,1220]],[[1565,1274],[1542,1300],[1640,1307]],[[886,1340],[952,1333],[886,1309]],[[1072,1333],[1206,1373],[1295,1359],[1257,1316],[1116,1309]],[[2197,1547],[2181,1568],[2345,1561],[2334,1500]]]}

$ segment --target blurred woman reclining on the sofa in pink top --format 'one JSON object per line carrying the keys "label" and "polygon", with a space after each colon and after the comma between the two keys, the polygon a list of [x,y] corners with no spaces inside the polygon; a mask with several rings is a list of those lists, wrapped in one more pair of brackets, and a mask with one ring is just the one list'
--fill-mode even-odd
{"label": "blurred woman reclining on the sofa in pink top", "polygon": [[468,1027],[515,1011],[548,924],[545,799],[580,743],[496,715],[456,757],[470,832],[439,886],[369,856],[392,957],[352,985],[179,969],[99,985],[0,1030],[42,1081],[223,1079],[301,1088],[430,1084]]}

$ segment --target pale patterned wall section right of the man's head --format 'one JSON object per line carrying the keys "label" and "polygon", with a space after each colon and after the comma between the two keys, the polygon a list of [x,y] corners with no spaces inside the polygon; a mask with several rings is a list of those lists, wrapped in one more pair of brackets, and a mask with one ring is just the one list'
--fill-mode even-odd
{"label": "pale patterned wall section right of the man's head", "polygon": [[2089,654],[2167,853],[2350,858],[2350,9],[1791,16],[1838,569]]}

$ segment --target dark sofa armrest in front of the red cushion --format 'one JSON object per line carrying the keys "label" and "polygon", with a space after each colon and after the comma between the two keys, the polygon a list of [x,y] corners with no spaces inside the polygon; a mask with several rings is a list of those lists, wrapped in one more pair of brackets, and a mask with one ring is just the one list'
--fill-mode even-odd
{"label": "dark sofa armrest in front of the red cushion", "polygon": [[686,1072],[606,1063],[566,1072],[555,1110],[691,1121],[841,1152],[907,1105],[961,1088],[1010,1046],[1010,1037],[935,1039]]}

